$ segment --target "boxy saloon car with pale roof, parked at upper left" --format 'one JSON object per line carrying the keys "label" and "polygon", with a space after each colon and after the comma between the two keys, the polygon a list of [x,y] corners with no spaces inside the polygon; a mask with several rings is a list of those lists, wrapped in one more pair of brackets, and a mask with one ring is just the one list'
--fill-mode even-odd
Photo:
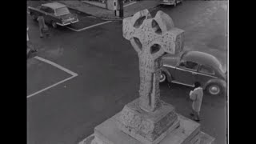
{"label": "boxy saloon car with pale roof, parked at upper left", "polygon": [[38,16],[42,14],[45,18],[45,22],[52,25],[54,28],[59,26],[66,26],[72,23],[78,22],[78,17],[76,14],[71,14],[70,10],[58,2],[50,2],[42,4],[37,8],[28,7],[29,13],[34,20],[37,20]]}

